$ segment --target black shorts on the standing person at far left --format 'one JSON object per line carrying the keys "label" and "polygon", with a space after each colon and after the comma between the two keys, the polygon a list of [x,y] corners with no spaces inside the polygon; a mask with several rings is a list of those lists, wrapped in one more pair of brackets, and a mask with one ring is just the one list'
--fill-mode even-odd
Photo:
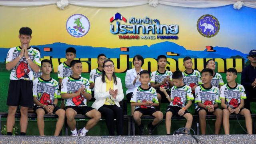
{"label": "black shorts on the standing person at far left", "polygon": [[32,89],[32,80],[10,80],[6,104],[8,106],[34,106]]}

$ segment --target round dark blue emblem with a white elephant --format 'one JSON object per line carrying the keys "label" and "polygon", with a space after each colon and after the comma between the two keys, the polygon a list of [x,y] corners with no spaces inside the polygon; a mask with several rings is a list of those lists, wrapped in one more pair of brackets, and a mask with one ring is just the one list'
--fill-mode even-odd
{"label": "round dark blue emblem with a white elephant", "polygon": [[198,19],[196,27],[202,36],[210,38],[218,34],[220,23],[214,16],[206,14]]}

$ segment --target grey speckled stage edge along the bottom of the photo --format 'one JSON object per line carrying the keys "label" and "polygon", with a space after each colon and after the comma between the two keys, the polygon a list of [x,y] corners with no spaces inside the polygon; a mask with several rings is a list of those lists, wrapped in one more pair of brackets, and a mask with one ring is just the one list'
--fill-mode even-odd
{"label": "grey speckled stage edge along the bottom of the photo", "polygon": [[[256,144],[256,135],[195,135],[199,144]],[[0,144],[196,144],[190,136],[0,136]]]}

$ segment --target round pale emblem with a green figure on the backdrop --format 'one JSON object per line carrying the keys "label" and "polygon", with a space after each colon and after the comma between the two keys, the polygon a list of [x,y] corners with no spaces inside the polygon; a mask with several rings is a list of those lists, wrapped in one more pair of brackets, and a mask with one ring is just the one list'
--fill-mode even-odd
{"label": "round pale emblem with a green figure on the backdrop", "polygon": [[74,14],[68,18],[66,29],[71,36],[79,38],[88,33],[90,30],[90,22],[86,16]]}

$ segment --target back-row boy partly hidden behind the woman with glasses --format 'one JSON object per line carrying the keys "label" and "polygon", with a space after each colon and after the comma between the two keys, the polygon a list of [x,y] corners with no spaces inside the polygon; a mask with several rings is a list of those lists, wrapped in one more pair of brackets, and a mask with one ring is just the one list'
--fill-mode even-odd
{"label": "back-row boy partly hidden behind the woman with glasses", "polygon": [[98,57],[97,57],[98,68],[95,68],[95,69],[91,70],[91,72],[90,72],[89,82],[90,82],[90,88],[92,90],[92,99],[91,100],[93,100],[93,101],[95,101],[95,98],[94,98],[94,82],[95,82],[96,78],[98,78],[99,76],[102,75],[103,63],[105,62],[106,59],[107,58],[106,58],[105,54],[99,54]]}

